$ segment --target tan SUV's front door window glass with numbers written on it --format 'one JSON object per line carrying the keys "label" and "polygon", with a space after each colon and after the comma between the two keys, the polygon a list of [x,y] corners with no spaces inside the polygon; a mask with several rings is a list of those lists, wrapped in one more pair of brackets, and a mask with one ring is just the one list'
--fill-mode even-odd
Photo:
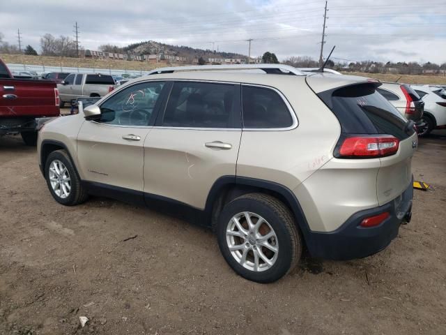
{"label": "tan SUV's front door window glass with numbers written on it", "polygon": [[122,126],[151,126],[164,82],[142,82],[114,94],[100,105],[100,122]]}

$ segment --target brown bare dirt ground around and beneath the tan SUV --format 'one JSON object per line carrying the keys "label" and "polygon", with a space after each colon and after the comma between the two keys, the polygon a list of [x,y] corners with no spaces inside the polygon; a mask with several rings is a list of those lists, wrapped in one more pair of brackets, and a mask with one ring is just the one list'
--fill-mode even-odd
{"label": "brown bare dirt ground around and beneath the tan SUV", "polygon": [[445,132],[420,140],[413,173],[432,190],[385,251],[306,257],[269,285],[234,274],[203,228],[57,204],[20,137],[0,138],[0,169],[0,334],[446,334]]}

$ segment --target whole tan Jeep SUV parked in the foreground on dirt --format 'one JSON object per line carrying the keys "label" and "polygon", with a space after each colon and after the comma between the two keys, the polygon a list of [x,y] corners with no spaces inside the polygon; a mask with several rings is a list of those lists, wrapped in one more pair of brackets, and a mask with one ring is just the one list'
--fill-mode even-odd
{"label": "whole tan Jeep SUV parked in the foreground on dirt", "polygon": [[40,131],[56,201],[104,195],[206,225],[229,265],[261,283],[304,246],[362,258],[410,221],[417,134],[379,82],[278,64],[153,73]]}

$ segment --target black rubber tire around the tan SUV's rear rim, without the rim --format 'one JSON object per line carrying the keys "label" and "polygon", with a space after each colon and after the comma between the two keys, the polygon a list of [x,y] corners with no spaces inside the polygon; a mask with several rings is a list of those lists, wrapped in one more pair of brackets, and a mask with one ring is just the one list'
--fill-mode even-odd
{"label": "black rubber tire around the tan SUV's rear rim, without the rim", "polygon": [[[226,230],[231,218],[245,211],[264,218],[277,236],[277,260],[264,271],[254,271],[240,265],[226,242]],[[249,193],[226,204],[218,218],[216,232],[220,251],[229,266],[240,276],[257,283],[272,283],[282,278],[297,265],[302,254],[302,238],[293,215],[282,202],[263,193]]]}

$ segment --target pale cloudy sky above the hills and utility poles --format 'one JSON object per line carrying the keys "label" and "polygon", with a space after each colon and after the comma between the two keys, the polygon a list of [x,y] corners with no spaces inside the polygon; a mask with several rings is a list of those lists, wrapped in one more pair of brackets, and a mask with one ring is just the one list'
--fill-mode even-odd
{"label": "pale cloudy sky above the hills and utility poles", "polygon": [[[141,40],[248,54],[318,59],[324,0],[0,0],[3,40],[40,50],[74,36],[85,49]],[[324,55],[334,61],[446,62],[446,0],[328,0]]]}

